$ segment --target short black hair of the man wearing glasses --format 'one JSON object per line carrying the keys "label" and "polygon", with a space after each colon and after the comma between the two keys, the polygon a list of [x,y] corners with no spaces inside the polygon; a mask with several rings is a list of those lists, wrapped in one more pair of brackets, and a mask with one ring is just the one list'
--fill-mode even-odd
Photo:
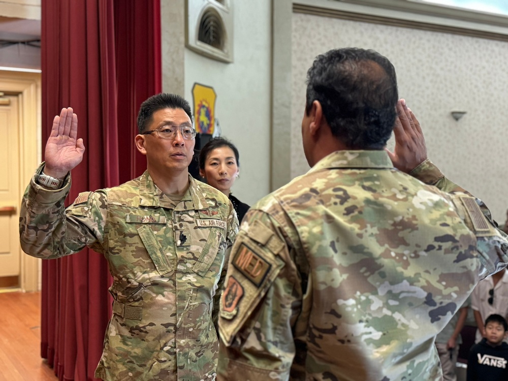
{"label": "short black hair of the man wearing glasses", "polygon": [[190,111],[190,105],[185,99],[177,94],[169,94],[161,92],[151,96],[144,101],[138,113],[138,133],[145,132],[150,124],[152,115],[157,110],[162,109],[182,109],[192,120],[192,112]]}

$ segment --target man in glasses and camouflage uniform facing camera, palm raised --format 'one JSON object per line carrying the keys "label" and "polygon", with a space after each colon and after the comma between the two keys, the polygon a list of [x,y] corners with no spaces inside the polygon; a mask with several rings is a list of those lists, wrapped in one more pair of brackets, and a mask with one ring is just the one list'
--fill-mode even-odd
{"label": "man in glasses and camouflage uniform facing camera, palm raised", "polygon": [[86,245],[108,260],[113,315],[98,378],[215,378],[218,301],[238,220],[226,196],[187,172],[196,136],[190,116],[179,96],[150,97],[141,105],[135,138],[147,171],[82,193],[64,209],[69,171],[81,162],[84,146],[76,139],[76,114],[62,109],[46,162],[23,197],[25,252],[60,258]]}

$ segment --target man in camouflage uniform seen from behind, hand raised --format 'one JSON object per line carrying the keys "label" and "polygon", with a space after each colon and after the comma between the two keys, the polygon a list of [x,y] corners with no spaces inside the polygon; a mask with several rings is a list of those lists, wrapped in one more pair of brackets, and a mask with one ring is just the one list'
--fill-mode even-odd
{"label": "man in camouflage uniform seen from behind, hand raised", "polygon": [[434,338],[506,266],[508,241],[480,200],[444,193],[460,189],[426,160],[412,117],[386,57],[316,58],[302,121],[312,168],[242,220],[220,301],[219,380],[442,379]]}

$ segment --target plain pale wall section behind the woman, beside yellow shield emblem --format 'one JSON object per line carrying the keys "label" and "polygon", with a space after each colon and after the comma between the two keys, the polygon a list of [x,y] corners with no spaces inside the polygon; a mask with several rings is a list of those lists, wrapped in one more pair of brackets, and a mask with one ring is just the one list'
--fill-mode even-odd
{"label": "plain pale wall section behind the woman, beside yellow shield emblem", "polygon": [[251,205],[270,192],[271,0],[231,1],[234,61],[224,63],[185,49],[184,97],[195,82],[214,88],[222,136],[240,152],[233,194]]}

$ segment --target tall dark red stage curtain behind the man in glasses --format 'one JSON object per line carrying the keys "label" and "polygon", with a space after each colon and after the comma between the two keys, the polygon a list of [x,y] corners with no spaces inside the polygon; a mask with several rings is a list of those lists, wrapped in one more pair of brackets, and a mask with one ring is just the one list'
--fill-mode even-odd
{"label": "tall dark red stage curtain behind the man in glasses", "polygon": [[[42,141],[71,106],[86,147],[67,204],[146,168],[133,141],[141,102],[161,92],[160,35],[159,0],[42,2]],[[84,249],[43,261],[42,278],[41,355],[60,380],[93,380],[111,313],[107,263]]]}

